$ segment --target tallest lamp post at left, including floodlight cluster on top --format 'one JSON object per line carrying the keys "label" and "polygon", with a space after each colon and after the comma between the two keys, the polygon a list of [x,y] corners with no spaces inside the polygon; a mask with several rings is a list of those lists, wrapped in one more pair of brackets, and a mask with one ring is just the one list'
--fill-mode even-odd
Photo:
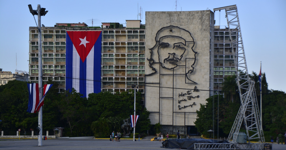
{"label": "tallest lamp post at left, including floodlight cluster on top", "polygon": [[[39,99],[41,100],[43,97],[43,80],[42,80],[42,33],[41,33],[41,16],[45,16],[48,11],[45,11],[45,8],[41,8],[41,5],[38,5],[37,10],[32,9],[32,5],[28,5],[30,9],[30,13],[34,15],[38,15],[38,65],[39,65]],[[35,18],[35,17],[34,17]],[[35,20],[36,21],[36,20]],[[38,146],[42,146],[42,130],[43,130],[43,113],[42,107],[39,109],[38,114],[38,127],[39,127],[39,135],[38,135]]]}

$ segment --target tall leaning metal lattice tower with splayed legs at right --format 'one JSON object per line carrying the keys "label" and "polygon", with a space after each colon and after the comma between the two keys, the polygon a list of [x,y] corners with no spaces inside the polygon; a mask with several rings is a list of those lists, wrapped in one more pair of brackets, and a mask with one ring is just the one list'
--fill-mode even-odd
{"label": "tall leaning metal lattice tower with splayed legs at right", "polygon": [[[225,9],[227,25],[229,29],[229,36],[232,47],[232,54],[235,62],[235,71],[237,75],[237,85],[239,88],[239,95],[241,106],[229,133],[228,141],[236,143],[239,129],[244,121],[248,141],[251,139],[258,139],[260,143],[264,143],[263,130],[260,125],[259,107],[257,104],[254,81],[249,78],[245,53],[243,48],[241,29],[239,24],[239,17],[237,6],[226,6],[213,9],[220,11]],[[230,28],[230,26],[232,28]],[[231,141],[232,139],[232,141]]]}

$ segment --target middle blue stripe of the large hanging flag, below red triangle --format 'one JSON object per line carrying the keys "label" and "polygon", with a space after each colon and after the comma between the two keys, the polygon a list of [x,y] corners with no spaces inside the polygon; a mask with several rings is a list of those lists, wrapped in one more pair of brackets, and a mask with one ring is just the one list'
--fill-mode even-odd
{"label": "middle blue stripe of the large hanging flag, below red triangle", "polygon": [[86,97],[86,60],[80,60],[80,91],[82,97]]}

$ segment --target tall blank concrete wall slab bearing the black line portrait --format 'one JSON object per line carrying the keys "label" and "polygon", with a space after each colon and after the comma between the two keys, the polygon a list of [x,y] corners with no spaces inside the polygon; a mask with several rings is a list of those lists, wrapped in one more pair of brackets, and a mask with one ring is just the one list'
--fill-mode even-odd
{"label": "tall blank concrete wall slab bearing the black line portrait", "polygon": [[213,36],[212,11],[146,12],[145,106],[161,131],[186,133],[212,95]]}

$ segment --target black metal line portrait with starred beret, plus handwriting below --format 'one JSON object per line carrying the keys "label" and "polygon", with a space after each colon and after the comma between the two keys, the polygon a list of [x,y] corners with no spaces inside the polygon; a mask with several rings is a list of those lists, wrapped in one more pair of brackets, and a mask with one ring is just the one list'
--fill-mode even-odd
{"label": "black metal line portrait with starred beret, plus handwriting below", "polygon": [[[164,80],[162,79],[166,77],[168,77],[168,80],[172,80],[173,88],[174,84],[177,83],[189,84],[190,86],[196,85],[196,81],[193,81],[191,78],[197,54],[193,49],[195,41],[191,33],[186,29],[170,25],[158,30],[155,41],[156,44],[150,48],[150,57],[147,57],[148,65],[152,69],[152,72],[145,76],[152,76],[159,73],[160,87],[164,86],[162,83]],[[180,82],[178,82],[179,80]],[[184,80],[184,82],[181,80]],[[190,105],[189,103],[188,105],[183,104],[185,101],[191,101],[199,97],[199,90],[196,86],[189,89],[193,90],[181,89],[182,92],[173,94],[172,98],[178,100],[179,110],[196,105],[195,102]],[[164,93],[164,90],[166,89],[160,89],[160,95]],[[178,89],[173,90],[173,92],[177,91]],[[168,91],[166,92],[168,93]],[[175,97],[175,95],[178,96]],[[160,96],[160,98],[164,97]]]}

